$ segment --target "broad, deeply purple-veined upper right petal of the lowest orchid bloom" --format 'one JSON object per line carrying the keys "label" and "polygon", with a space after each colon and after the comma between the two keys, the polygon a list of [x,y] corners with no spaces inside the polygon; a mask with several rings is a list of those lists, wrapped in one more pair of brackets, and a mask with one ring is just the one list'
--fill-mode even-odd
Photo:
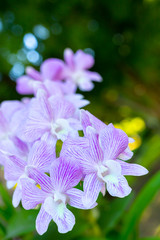
{"label": "broad, deeply purple-veined upper right petal of the lowest orchid bloom", "polygon": [[50,177],[54,189],[65,192],[80,182],[82,172],[76,163],[60,157],[53,161],[50,168]]}

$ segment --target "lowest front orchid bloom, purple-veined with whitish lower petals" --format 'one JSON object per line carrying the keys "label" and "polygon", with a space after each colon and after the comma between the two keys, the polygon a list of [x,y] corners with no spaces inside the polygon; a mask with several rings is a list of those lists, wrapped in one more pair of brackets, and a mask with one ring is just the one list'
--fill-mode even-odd
{"label": "lowest front orchid bloom, purple-veined with whitish lower petals", "polygon": [[[22,205],[25,209],[42,204],[36,219],[37,232],[42,235],[53,221],[60,233],[71,231],[75,217],[66,207],[85,209],[82,203],[84,192],[74,188],[82,178],[81,169],[71,161],[56,159],[50,168],[50,177],[34,168],[28,168],[28,175],[40,185],[41,189],[26,180],[22,180]],[[94,207],[94,205],[92,206]]]}

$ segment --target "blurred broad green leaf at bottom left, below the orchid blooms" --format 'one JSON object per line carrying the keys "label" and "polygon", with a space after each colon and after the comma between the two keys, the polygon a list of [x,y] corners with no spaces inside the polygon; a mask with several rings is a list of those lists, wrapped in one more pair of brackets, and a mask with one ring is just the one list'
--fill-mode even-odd
{"label": "blurred broad green leaf at bottom left, below the orchid blooms", "polygon": [[37,210],[18,209],[10,219],[5,239],[19,237],[35,230]]}

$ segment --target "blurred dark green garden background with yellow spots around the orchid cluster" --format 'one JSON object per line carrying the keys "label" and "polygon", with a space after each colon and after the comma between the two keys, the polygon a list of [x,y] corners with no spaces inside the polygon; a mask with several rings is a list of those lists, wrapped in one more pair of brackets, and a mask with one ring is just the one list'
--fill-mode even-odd
{"label": "blurred dark green garden background with yellow spots around the orchid cluster", "polygon": [[13,209],[1,184],[0,239],[160,239],[160,1],[0,1],[0,101],[20,99],[15,81],[25,67],[62,59],[66,47],[95,57],[103,82],[83,93],[86,109],[135,139],[132,162],[149,174],[127,178],[129,197],[100,196],[94,210],[74,209],[77,223],[65,235],[51,223],[38,236],[37,210]]}

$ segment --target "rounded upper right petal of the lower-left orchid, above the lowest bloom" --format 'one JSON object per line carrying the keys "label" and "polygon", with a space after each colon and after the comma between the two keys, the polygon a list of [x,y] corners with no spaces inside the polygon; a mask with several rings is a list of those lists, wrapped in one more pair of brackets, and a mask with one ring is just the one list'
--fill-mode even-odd
{"label": "rounded upper right petal of the lower-left orchid, above the lowest bloom", "polygon": [[52,145],[45,141],[37,141],[29,152],[28,165],[35,166],[40,171],[48,172],[51,162],[55,158],[56,153]]}

